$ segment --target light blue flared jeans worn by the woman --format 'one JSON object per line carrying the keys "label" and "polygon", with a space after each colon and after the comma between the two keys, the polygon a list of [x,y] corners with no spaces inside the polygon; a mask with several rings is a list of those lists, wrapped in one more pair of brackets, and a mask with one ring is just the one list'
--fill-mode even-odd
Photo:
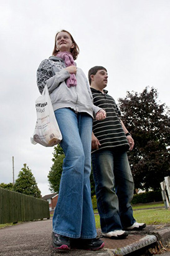
{"label": "light blue flared jeans worn by the woman", "polygon": [[93,119],[68,108],[55,111],[55,117],[65,159],[53,231],[75,239],[93,239],[97,236],[90,191]]}

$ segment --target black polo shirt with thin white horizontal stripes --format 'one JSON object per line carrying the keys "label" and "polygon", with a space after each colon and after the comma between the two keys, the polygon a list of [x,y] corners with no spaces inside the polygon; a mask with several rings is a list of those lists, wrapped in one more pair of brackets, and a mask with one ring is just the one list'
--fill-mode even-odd
{"label": "black polo shirt with thin white horizontal stripes", "polygon": [[[93,121],[93,133],[100,141],[99,149],[120,149],[128,150],[129,144],[125,132],[121,126],[121,113],[113,97],[108,95],[108,91],[97,91],[91,88],[93,103],[106,111],[106,118],[102,121]],[[92,153],[97,150],[92,150]]]}

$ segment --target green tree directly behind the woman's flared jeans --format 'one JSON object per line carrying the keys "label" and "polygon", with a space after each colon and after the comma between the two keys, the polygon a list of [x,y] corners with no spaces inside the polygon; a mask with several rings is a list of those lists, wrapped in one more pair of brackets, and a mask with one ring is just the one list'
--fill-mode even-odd
{"label": "green tree directly behind the woman's flared jeans", "polygon": [[[62,164],[64,160],[64,152],[60,145],[54,147],[54,157],[52,158],[53,164],[49,171],[48,179],[50,184],[50,191],[51,192],[59,192],[60,187],[60,178],[62,175]],[[91,182],[91,190],[92,195],[95,195],[95,185],[93,181],[93,174],[90,175],[90,182]]]}

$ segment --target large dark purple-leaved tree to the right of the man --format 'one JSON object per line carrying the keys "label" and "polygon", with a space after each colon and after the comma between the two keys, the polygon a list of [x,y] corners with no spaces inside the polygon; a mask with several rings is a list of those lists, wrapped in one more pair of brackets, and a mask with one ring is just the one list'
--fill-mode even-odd
{"label": "large dark purple-leaved tree to the right of the man", "polygon": [[160,189],[160,182],[170,174],[170,112],[159,104],[158,91],[146,87],[143,92],[127,92],[119,99],[127,129],[133,135],[135,148],[129,153],[135,187]]}

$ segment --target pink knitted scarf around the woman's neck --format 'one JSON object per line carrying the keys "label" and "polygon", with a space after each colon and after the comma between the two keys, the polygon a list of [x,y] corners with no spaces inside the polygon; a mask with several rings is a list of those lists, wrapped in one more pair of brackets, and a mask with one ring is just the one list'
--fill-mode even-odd
{"label": "pink knitted scarf around the woman's neck", "polygon": [[[57,57],[60,57],[61,59],[64,59],[65,66],[75,66],[75,62],[73,61],[73,56],[70,52],[58,52]],[[70,86],[77,86],[77,80],[75,77],[75,74],[70,74],[70,77],[67,78],[67,87]]]}

